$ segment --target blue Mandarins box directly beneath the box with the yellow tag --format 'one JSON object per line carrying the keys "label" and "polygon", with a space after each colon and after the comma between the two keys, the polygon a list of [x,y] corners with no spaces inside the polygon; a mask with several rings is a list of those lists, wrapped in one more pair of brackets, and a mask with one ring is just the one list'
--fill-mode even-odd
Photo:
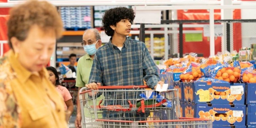
{"label": "blue Mandarins box directly beneath the box with the yellow tag", "polygon": [[185,117],[212,120],[212,125],[245,126],[246,105],[184,103]]}

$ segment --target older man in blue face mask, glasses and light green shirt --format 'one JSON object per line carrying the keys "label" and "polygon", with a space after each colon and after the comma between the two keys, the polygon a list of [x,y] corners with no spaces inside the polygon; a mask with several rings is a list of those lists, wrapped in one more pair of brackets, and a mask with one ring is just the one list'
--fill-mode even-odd
{"label": "older man in blue face mask, glasses and light green shirt", "polygon": [[[88,84],[89,76],[93,66],[94,54],[96,53],[97,49],[101,46],[101,38],[100,38],[99,31],[94,28],[85,30],[83,34],[83,42],[81,43],[81,45],[83,46],[86,54],[81,58],[79,58],[77,63],[76,86],[78,87],[78,92],[82,87],[85,86],[85,84]],[[104,99],[104,96],[100,96],[98,98]],[[92,117],[92,115],[81,115],[79,93],[78,93],[77,115],[76,115],[76,121],[75,121],[76,128],[81,128],[81,116],[85,116],[85,119]],[[98,119],[100,118],[102,118],[102,114],[98,114]],[[85,120],[85,121],[88,121],[88,120]]]}

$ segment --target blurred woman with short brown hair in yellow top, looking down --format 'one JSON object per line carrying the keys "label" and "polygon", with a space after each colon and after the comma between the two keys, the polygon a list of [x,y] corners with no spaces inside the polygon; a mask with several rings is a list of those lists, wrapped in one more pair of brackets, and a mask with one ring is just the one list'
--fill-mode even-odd
{"label": "blurred woman with short brown hair in yellow top, looking down", "polygon": [[10,50],[0,59],[0,128],[67,128],[63,98],[45,65],[62,34],[57,9],[30,0],[11,8]]}

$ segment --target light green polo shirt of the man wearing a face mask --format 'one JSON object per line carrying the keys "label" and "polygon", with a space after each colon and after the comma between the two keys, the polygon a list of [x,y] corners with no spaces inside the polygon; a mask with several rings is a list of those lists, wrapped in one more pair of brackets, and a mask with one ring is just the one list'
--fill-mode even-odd
{"label": "light green polo shirt of the man wearing a face mask", "polygon": [[[82,57],[78,59],[77,62],[77,71],[76,71],[76,86],[77,87],[84,87],[85,84],[88,84],[89,76],[91,73],[91,69],[93,66],[93,59],[90,57],[89,54],[85,54]],[[97,98],[96,105],[99,105],[99,101],[105,99],[104,96],[100,96]],[[88,102],[87,102],[88,103]],[[93,102],[89,102],[86,106],[92,106]],[[100,114],[98,114],[98,119],[102,119],[101,111],[98,111]],[[95,118],[92,111],[89,111],[84,107],[84,116],[87,118]]]}

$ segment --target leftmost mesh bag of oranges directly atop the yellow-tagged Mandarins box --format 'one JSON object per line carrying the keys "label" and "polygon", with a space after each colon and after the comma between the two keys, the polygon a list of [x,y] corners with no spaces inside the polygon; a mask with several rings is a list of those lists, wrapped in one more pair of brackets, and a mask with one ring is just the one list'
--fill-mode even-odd
{"label": "leftmost mesh bag of oranges directly atop the yellow-tagged Mandarins box", "polygon": [[180,80],[185,81],[195,81],[202,77],[202,72],[200,70],[199,64],[191,62],[188,68],[180,74]]}

